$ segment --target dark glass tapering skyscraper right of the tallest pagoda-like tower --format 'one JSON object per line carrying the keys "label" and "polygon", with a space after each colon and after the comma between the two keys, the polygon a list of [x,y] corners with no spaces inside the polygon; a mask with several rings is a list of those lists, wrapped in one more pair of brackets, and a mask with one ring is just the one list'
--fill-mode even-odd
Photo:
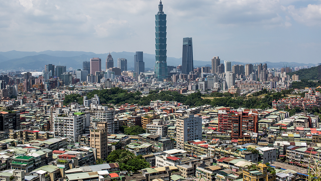
{"label": "dark glass tapering skyscraper right of the tallest pagoda-like tower", "polygon": [[193,71],[193,44],[192,38],[183,38],[182,73],[189,74]]}

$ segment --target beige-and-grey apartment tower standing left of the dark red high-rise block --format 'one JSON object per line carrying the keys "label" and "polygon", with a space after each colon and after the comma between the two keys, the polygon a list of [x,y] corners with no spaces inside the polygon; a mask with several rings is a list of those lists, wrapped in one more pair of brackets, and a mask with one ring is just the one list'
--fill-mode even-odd
{"label": "beige-and-grey apartment tower standing left of the dark red high-rise block", "polygon": [[202,118],[194,114],[185,114],[176,120],[177,149],[184,149],[185,141],[202,139]]}

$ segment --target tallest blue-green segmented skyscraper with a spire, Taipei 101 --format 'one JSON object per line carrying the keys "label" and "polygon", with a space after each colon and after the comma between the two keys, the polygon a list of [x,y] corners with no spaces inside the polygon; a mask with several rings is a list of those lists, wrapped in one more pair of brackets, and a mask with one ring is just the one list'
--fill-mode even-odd
{"label": "tallest blue-green segmented skyscraper with a spire, Taipei 101", "polygon": [[163,12],[163,5],[158,5],[158,13],[155,15],[155,74],[159,80],[167,77],[166,62],[166,14]]}

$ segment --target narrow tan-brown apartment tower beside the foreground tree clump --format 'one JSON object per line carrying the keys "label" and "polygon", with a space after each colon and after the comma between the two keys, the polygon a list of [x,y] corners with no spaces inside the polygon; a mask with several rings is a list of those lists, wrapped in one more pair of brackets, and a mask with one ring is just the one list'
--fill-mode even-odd
{"label": "narrow tan-brown apartment tower beside the foreground tree clump", "polygon": [[107,128],[108,122],[97,122],[96,129],[90,129],[90,147],[96,149],[97,158],[107,158],[108,156]]}

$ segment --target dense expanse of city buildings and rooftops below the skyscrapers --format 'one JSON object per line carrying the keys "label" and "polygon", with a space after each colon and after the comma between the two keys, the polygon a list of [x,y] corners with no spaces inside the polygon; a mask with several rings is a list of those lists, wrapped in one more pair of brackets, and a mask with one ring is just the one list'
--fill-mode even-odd
{"label": "dense expanse of city buildings and rooftops below the skyscrapers", "polygon": [[[252,96],[262,89],[291,88],[293,79],[298,79],[267,65],[233,65],[228,73],[222,71],[223,65],[217,64],[216,72],[202,67],[188,74],[182,74],[179,66],[168,66],[171,78],[165,81],[152,71],[121,72],[116,67],[90,75],[62,72],[63,77],[57,78],[50,77],[49,65],[38,77],[30,72],[9,73],[0,92],[0,175],[30,181],[293,181],[306,177],[309,166],[317,167],[321,153],[319,115],[285,109],[319,108],[320,93],[314,89],[302,90],[306,91],[303,98],[274,100],[267,109],[193,106],[184,99],[137,101],[162,94],[161,90],[173,95],[200,90],[201,94]],[[7,78],[0,77],[1,85],[3,79]],[[12,84],[7,86],[9,81]],[[106,96],[104,91],[112,94]],[[114,98],[117,91],[124,92]],[[117,102],[126,91],[135,94],[126,99],[136,102]],[[134,161],[149,165],[126,170],[125,155],[107,163],[108,155],[121,149],[133,153]]]}

